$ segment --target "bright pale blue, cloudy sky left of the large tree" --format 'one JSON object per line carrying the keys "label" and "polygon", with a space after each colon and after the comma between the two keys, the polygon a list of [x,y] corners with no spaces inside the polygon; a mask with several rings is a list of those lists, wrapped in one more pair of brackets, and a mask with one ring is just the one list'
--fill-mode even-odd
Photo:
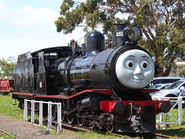
{"label": "bright pale blue, cloudy sky left of the large tree", "polygon": [[64,35],[54,24],[62,0],[0,0],[0,58],[84,41],[82,28]]}

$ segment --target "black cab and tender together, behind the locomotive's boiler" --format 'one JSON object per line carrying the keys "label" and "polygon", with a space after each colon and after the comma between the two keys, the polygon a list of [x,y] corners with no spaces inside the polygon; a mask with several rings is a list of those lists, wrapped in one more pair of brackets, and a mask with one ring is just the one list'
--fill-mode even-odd
{"label": "black cab and tender together, behind the locomotive's boiler", "polygon": [[71,47],[53,47],[18,57],[15,68],[15,92],[58,94],[54,62],[72,55]]}

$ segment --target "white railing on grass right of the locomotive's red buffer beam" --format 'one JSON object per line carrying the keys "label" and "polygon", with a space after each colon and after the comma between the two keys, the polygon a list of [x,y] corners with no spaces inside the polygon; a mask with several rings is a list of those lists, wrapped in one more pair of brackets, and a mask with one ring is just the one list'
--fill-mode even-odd
{"label": "white railing on grass right of the locomotive's red buffer beam", "polygon": [[[183,109],[182,109],[182,97],[160,97],[155,98],[156,100],[170,100],[171,108],[168,113],[160,113],[157,115],[156,123],[157,126],[160,128],[162,125],[170,125],[170,124],[176,124],[181,125],[182,119],[183,119]],[[172,113],[173,109],[177,109],[177,115],[174,115]]]}

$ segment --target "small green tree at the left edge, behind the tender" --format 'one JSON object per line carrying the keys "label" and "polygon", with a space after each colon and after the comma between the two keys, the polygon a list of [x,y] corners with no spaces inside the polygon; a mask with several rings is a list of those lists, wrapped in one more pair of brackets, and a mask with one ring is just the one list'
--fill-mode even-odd
{"label": "small green tree at the left edge, behind the tender", "polygon": [[15,62],[13,59],[0,59],[0,78],[13,79]]}

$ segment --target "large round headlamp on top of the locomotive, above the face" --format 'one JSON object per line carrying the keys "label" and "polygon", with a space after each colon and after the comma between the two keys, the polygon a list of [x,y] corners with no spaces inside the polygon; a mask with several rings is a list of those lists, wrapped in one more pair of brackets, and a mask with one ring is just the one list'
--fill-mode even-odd
{"label": "large round headlamp on top of the locomotive, above the face", "polygon": [[131,42],[137,42],[141,38],[141,30],[138,27],[126,27],[125,35]]}

